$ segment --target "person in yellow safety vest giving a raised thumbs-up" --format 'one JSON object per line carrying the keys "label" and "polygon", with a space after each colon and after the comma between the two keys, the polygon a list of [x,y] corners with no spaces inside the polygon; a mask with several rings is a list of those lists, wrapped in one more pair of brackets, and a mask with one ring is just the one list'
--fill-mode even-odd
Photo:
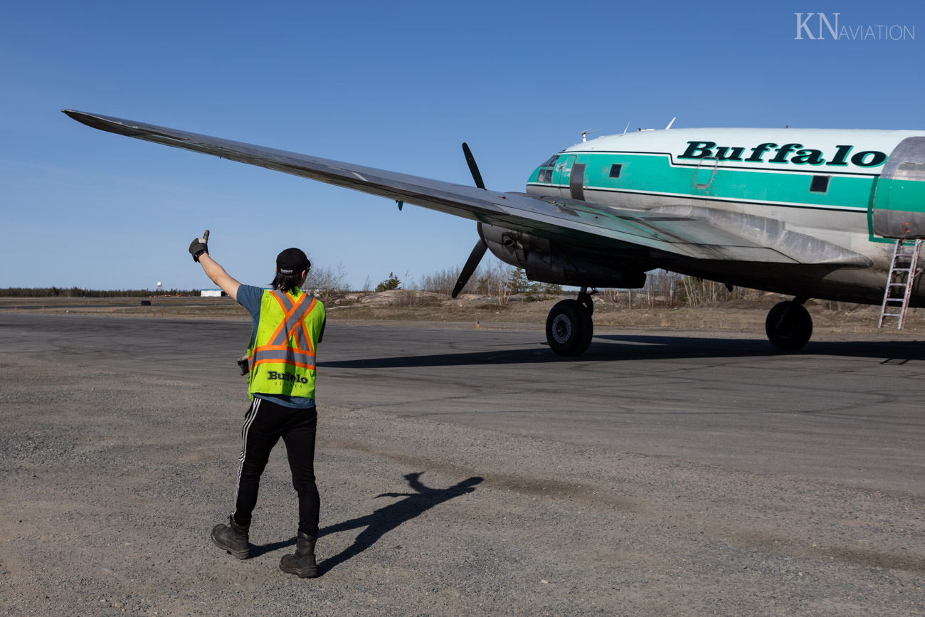
{"label": "person in yellow safety vest giving a raised thumbs-up", "polygon": [[286,249],[277,255],[272,290],[241,285],[209,256],[209,232],[190,244],[192,258],[206,276],[240,303],[253,318],[248,345],[251,406],[241,427],[234,510],[228,524],[216,524],[212,540],[237,559],[251,554],[248,530],[257,489],[270,450],[286,444],[292,486],[299,494],[299,535],[295,553],[279,569],[302,577],[317,576],[314,543],[318,537],[318,488],[314,483],[314,357],[325,330],[325,307],[300,288],[312,267],[305,253]]}

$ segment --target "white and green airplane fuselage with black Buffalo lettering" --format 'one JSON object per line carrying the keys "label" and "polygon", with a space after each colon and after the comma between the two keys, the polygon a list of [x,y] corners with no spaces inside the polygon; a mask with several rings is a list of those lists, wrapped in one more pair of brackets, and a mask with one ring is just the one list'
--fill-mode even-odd
{"label": "white and green airplane fuselage with black Buffalo lettering", "polygon": [[[551,156],[528,193],[619,208],[689,208],[783,221],[870,258],[870,267],[678,260],[670,269],[816,298],[881,302],[894,240],[871,227],[882,168],[912,130],[678,129],[600,137]],[[925,290],[914,290],[916,303]]]}

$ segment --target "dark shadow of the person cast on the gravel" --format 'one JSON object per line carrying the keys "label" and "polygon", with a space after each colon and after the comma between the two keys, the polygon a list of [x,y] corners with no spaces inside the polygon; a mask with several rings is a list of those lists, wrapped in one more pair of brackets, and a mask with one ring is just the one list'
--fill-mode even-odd
{"label": "dark shadow of the person cast on the gravel", "polygon": [[484,480],[484,478],[474,476],[462,480],[462,482],[449,488],[429,488],[425,487],[420,481],[420,477],[423,474],[424,472],[417,472],[404,476],[405,479],[408,480],[408,487],[416,492],[382,493],[381,495],[376,495],[376,499],[380,497],[404,497],[405,499],[379,508],[376,512],[366,514],[360,518],[344,521],[339,524],[332,524],[321,529],[318,532],[318,537],[365,527],[365,529],[360,532],[360,535],[353,540],[351,546],[341,550],[333,557],[328,557],[325,561],[318,564],[318,575],[321,576],[327,573],[327,571],[336,568],[344,561],[359,555],[365,549],[376,544],[376,541],[380,537],[385,536],[389,531],[395,529],[400,524],[419,516],[422,512],[426,512],[434,506],[444,501],[449,501],[454,497],[460,497],[466,493],[473,492],[475,490],[475,485]]}

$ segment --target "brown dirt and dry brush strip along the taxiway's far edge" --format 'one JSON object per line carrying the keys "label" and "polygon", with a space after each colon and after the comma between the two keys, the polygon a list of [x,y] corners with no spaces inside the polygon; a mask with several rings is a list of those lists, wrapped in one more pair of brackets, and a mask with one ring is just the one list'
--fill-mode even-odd
{"label": "brown dirt and dry brush strip along the taxiway's far edge", "polygon": [[[548,300],[531,301],[524,295],[512,296],[499,304],[488,296],[464,294],[452,300],[433,292],[390,290],[368,294],[348,294],[328,300],[327,318],[332,323],[400,324],[414,322],[426,327],[479,327],[487,329],[542,330],[549,309],[556,302],[573,298],[562,294]],[[636,298],[634,306],[625,299],[614,302],[594,296],[594,324],[599,333],[612,328],[656,328],[667,330],[721,330],[750,332],[764,336],[768,311],[777,302],[789,300],[779,294],[765,294],[759,300],[711,302],[697,306],[648,306]],[[143,305],[141,302],[151,302]],[[815,334],[864,333],[895,336],[894,327],[878,329],[879,306],[810,300],[807,308],[813,318]],[[203,318],[248,320],[250,315],[230,298],[0,298],[0,311],[38,313],[79,313],[83,315],[122,315],[139,318]],[[902,335],[925,333],[925,309],[909,309]]]}

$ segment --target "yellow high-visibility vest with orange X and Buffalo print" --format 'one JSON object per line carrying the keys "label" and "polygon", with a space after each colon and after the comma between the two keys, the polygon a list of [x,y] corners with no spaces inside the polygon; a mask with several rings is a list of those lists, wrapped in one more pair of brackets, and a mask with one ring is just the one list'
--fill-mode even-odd
{"label": "yellow high-visibility vest with orange X and Buffalo print", "polygon": [[302,291],[265,290],[260,322],[247,348],[248,392],[314,399],[314,350],[325,305]]}

